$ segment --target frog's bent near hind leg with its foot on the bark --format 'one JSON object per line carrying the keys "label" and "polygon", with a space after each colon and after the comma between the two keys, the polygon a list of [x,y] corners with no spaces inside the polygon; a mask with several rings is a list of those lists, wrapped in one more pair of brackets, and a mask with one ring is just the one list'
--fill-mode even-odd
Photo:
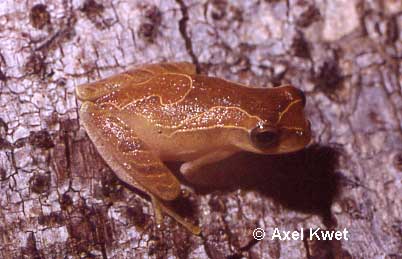
{"label": "frog's bent near hind leg with its foot on the bark", "polygon": [[176,177],[116,114],[118,111],[113,110],[112,105],[82,104],[80,120],[99,154],[122,181],[150,195],[158,223],[164,212],[192,233],[199,234],[199,227],[185,221],[163,203],[180,195]]}

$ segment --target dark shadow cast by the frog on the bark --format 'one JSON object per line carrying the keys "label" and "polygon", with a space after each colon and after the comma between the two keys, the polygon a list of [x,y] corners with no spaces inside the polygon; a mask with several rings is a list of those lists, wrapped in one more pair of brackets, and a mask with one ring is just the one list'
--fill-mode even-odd
{"label": "dark shadow cast by the frog on the bark", "polygon": [[320,215],[330,227],[336,225],[330,208],[339,189],[340,179],[335,173],[339,153],[319,145],[280,156],[239,153],[207,165],[187,179],[178,173],[178,164],[169,167],[200,194],[257,190],[289,209]]}

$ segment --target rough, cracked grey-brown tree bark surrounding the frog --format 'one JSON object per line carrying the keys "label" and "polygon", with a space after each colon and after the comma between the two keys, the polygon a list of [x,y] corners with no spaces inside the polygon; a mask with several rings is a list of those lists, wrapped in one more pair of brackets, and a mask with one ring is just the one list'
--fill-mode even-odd
{"label": "rough, cracked grey-brown tree bark surrounding the frog", "polygon": [[[401,258],[399,0],[3,0],[1,258]],[[315,144],[240,154],[185,181],[202,236],[155,226],[80,127],[78,84],[187,60],[307,95]],[[171,165],[177,168],[177,165]],[[252,231],[267,232],[256,241]],[[349,240],[270,240],[274,227]]]}

